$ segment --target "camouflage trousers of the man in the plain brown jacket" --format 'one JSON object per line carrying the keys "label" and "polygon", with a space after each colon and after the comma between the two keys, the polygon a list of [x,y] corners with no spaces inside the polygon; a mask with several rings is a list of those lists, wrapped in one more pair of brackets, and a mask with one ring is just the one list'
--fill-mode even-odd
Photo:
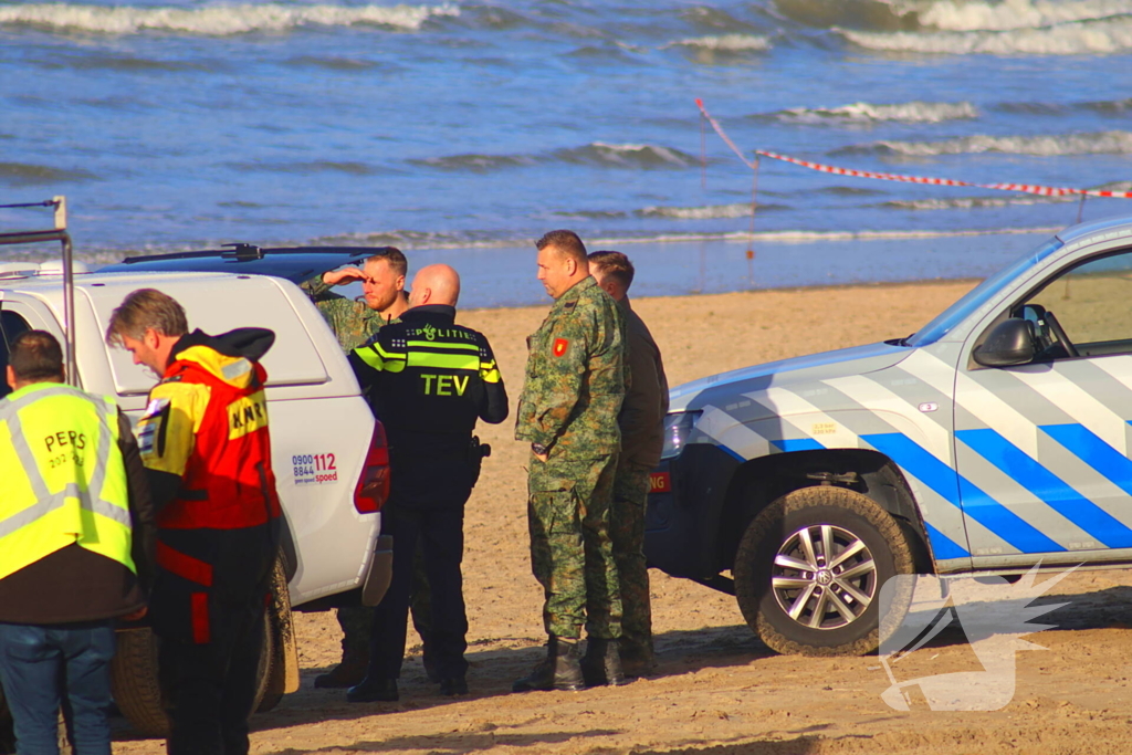
{"label": "camouflage trousers of the man in the plain brown jacket", "polygon": [[649,466],[620,462],[609,507],[609,537],[621,593],[621,653],[652,658],[652,607],[644,557],[644,512],[649,503]]}

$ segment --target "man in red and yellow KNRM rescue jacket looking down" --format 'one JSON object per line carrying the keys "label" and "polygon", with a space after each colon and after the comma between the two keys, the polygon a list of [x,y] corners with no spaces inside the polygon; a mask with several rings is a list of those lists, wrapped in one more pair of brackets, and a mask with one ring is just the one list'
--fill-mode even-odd
{"label": "man in red and yellow KNRM rescue jacket looking down", "polygon": [[188,332],[154,289],[129,294],[106,332],[161,376],[138,423],[157,509],[149,601],[171,755],[248,752],[280,503],[259,359],[263,328]]}

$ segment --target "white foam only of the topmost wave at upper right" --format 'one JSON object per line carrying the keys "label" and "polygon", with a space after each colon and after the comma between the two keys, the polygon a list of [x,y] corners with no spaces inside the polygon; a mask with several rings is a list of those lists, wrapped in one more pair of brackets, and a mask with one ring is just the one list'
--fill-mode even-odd
{"label": "white foam only of the topmost wave at upper right", "polygon": [[1132,0],[1003,0],[966,2],[942,0],[901,3],[916,9],[924,27],[950,32],[1040,28],[1074,22],[1098,20],[1132,14]]}

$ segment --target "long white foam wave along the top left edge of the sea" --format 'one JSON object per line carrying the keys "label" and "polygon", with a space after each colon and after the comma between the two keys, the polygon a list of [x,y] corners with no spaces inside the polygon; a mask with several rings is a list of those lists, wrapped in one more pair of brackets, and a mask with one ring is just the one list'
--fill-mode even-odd
{"label": "long white foam wave along the top left edge of the sea", "polygon": [[231,36],[286,32],[308,26],[385,26],[415,31],[429,18],[458,16],[454,5],[440,6],[283,6],[232,5],[204,8],[137,8],[74,3],[0,6],[0,26],[34,26],[93,34],[173,32]]}

